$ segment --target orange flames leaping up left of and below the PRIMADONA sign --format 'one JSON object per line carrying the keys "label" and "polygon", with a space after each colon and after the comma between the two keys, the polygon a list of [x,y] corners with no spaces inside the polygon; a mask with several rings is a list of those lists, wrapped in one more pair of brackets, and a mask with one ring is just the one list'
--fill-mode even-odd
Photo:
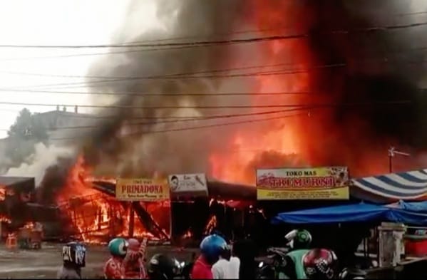
{"label": "orange flames leaping up left of and below the PRIMADONA sign", "polygon": [[[115,182],[109,178],[91,177],[91,169],[85,165],[83,157],[78,157],[66,185],[56,197],[64,218],[71,221],[69,230],[84,242],[106,242],[106,237],[129,236],[129,205],[93,189],[93,180]],[[133,219],[134,237],[157,239],[145,229],[136,214]]]}

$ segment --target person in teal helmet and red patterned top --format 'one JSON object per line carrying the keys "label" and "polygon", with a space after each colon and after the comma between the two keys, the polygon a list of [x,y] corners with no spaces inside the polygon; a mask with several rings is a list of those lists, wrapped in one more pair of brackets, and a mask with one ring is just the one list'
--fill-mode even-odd
{"label": "person in teal helmet and red patterned top", "polygon": [[110,259],[104,266],[106,279],[125,279],[125,256],[128,253],[128,242],[123,238],[115,238],[108,243]]}

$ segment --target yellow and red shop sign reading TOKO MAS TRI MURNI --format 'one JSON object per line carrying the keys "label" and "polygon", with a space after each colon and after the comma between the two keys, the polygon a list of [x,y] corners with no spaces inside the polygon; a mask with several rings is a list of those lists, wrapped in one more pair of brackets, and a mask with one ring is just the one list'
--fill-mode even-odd
{"label": "yellow and red shop sign reading TOKO MAS TRI MURNI", "polygon": [[349,199],[347,167],[257,170],[257,199]]}

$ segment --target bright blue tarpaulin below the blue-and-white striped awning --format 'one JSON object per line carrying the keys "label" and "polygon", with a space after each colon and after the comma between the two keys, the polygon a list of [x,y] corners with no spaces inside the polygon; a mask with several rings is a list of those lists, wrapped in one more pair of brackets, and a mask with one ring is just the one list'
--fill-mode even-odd
{"label": "bright blue tarpaulin below the blue-and-white striped awning", "polygon": [[[393,206],[347,204],[277,214],[273,224],[324,224],[342,222],[401,222],[427,225],[427,202],[399,202]],[[423,210],[421,210],[423,209]]]}

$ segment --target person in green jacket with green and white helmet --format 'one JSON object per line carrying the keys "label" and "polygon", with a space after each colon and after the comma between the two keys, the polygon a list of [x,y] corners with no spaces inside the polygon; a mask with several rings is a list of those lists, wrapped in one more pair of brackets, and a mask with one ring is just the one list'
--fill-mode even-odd
{"label": "person in green jacket with green and white helmet", "polygon": [[284,257],[282,272],[289,279],[307,279],[302,260],[309,252],[312,244],[312,234],[306,229],[294,229],[285,238],[289,241],[291,251]]}

